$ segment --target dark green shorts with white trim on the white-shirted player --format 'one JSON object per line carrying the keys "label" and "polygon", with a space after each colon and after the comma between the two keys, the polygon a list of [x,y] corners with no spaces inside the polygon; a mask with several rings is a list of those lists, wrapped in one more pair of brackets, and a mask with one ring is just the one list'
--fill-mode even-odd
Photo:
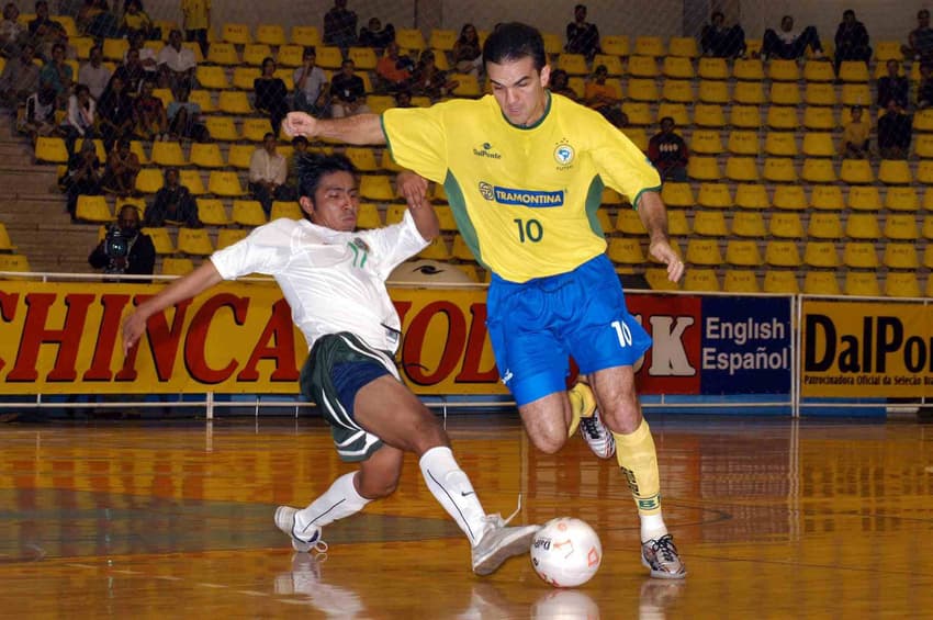
{"label": "dark green shorts with white trim on the white-shirted player", "polygon": [[299,380],[301,392],[317,404],[330,425],[334,446],[342,461],[366,461],[382,448],[382,440],[353,418],[353,397],[363,385],[383,374],[398,379],[392,356],[369,347],[352,334],[324,336],[311,348]]}

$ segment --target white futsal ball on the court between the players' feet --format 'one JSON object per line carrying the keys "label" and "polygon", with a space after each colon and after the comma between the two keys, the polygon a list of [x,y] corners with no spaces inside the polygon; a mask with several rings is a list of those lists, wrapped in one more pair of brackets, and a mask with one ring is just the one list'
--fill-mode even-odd
{"label": "white futsal ball on the court between the players' feet", "polygon": [[585,584],[602,561],[599,537],[585,521],[573,517],[551,519],[531,543],[531,565],[539,577],[554,587]]}

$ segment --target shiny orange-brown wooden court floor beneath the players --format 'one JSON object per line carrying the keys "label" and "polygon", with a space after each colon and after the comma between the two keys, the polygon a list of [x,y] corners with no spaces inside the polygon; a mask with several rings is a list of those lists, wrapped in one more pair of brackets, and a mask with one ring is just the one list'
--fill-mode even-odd
{"label": "shiny orange-brown wooden court floor beneath the players", "polygon": [[414,459],[398,492],[293,554],[279,504],[348,470],[316,419],[0,426],[0,618],[933,617],[933,427],[651,416],[684,582],[648,578],[615,462],[529,449],[514,417],[449,425],[487,511],[585,519],[599,573],[470,572]]}

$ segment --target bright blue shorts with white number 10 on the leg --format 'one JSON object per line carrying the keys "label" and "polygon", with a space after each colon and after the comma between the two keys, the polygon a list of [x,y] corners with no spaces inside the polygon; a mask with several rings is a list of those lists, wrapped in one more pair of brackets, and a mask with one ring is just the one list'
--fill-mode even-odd
{"label": "bright blue shorts with white number 10 on the leg", "polygon": [[493,274],[486,306],[496,364],[519,406],[566,388],[569,356],[588,374],[633,365],[651,347],[605,255],[521,284]]}

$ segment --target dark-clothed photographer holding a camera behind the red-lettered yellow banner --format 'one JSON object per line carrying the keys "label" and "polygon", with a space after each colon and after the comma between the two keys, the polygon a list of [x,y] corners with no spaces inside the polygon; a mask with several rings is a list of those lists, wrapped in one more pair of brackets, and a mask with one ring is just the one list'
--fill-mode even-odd
{"label": "dark-clothed photographer holding a camera behind the red-lettered yellow banner", "polygon": [[151,275],[156,267],[156,248],[153,239],[142,232],[139,210],[132,204],[120,208],[116,223],[111,224],[106,236],[88,257],[94,269],[104,273]]}

